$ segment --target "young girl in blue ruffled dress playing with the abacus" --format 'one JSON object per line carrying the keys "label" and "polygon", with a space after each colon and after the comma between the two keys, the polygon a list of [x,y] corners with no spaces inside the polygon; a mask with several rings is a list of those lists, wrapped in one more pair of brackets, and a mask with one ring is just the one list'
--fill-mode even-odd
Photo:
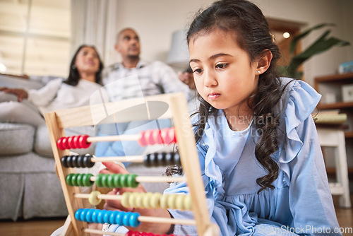
{"label": "young girl in blue ruffled dress playing with the abacus", "polygon": [[[246,0],[217,1],[193,20],[187,40],[201,100],[193,119],[197,149],[221,235],[340,235],[311,117],[321,95],[277,76],[280,53],[261,10]],[[165,192],[187,191],[176,183]],[[121,206],[108,201],[107,208]],[[189,218],[177,210],[144,211]],[[139,230],[196,235],[185,225]]]}

